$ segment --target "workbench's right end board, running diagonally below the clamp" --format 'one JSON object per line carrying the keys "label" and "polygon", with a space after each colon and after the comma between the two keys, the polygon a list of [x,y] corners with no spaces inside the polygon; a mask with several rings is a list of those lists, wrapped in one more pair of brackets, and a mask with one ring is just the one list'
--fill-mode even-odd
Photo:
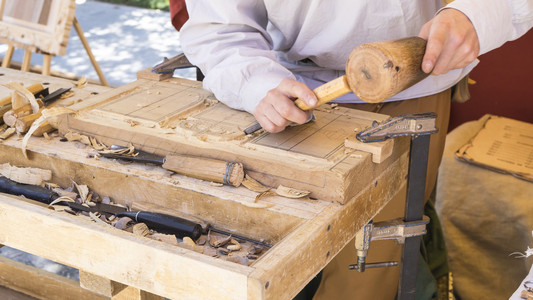
{"label": "workbench's right end board, running diagonally below the clamp", "polygon": [[[369,185],[345,205],[332,203],[322,214],[278,243],[272,255],[267,253],[254,264],[250,277],[267,285],[265,299],[296,296],[307,281],[401,190],[406,184],[407,166],[408,154],[405,153],[377,178],[377,186]],[[360,219],[354,219],[355,212],[361,215]],[[285,276],[280,277],[279,270],[283,270]]]}

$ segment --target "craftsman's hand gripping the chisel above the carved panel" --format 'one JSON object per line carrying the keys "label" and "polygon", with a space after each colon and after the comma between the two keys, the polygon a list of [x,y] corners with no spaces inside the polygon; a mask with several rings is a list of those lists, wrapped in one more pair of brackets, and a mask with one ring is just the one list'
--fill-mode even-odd
{"label": "craftsman's hand gripping the chisel above the carved panel", "polygon": [[305,84],[294,79],[284,79],[276,88],[268,91],[254,109],[254,116],[268,132],[280,132],[291,123],[303,124],[311,111],[303,111],[295,104],[296,98],[309,106],[317,103],[316,95]]}

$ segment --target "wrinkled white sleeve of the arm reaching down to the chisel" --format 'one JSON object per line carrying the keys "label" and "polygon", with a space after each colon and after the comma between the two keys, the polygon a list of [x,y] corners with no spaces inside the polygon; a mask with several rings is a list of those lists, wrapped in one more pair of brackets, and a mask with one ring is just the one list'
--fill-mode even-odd
{"label": "wrinkled white sleeve of the arm reaching down to the chisel", "polygon": [[206,77],[204,88],[226,105],[253,113],[267,92],[295,78],[279,64],[267,33],[263,1],[187,0],[180,32],[187,58]]}

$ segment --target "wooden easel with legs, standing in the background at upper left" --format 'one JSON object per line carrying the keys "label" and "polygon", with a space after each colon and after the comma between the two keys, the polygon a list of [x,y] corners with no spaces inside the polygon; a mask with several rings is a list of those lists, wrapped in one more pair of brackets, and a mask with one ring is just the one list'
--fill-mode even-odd
{"label": "wooden easel with legs, standing in the background at upper left", "polygon": [[[52,1],[55,1],[55,3]],[[49,0],[47,3],[47,6],[42,4],[40,8],[33,8],[36,10],[34,15],[39,15],[38,18],[33,16],[32,19],[26,19],[27,16],[20,16],[21,11],[23,13],[27,12],[26,8],[17,10],[14,13],[12,12],[14,11],[14,4],[9,3],[6,6],[6,0],[0,0],[0,26],[5,29],[3,32],[6,32],[4,36],[0,36],[0,42],[8,44],[1,66],[9,68],[15,48],[20,48],[25,50],[21,71],[30,71],[32,53],[41,53],[43,54],[41,73],[50,75],[52,57],[65,54],[70,27],[73,25],[94,70],[98,74],[100,82],[102,85],[109,86],[98,62],[94,58],[79,22],[74,16],[76,6],[74,0]],[[24,2],[18,2],[17,4],[20,4],[20,7],[25,7]],[[5,11],[6,7],[8,8],[7,12]],[[16,9],[18,8],[17,6]],[[42,21],[43,16],[45,21]],[[28,36],[31,36],[31,38],[28,38]]]}

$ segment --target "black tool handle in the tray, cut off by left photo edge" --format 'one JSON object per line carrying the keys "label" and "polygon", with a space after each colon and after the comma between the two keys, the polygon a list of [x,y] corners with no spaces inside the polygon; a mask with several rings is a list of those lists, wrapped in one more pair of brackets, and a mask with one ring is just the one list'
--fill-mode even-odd
{"label": "black tool handle in the tray, cut off by left photo edge", "polygon": [[15,182],[5,176],[0,176],[0,192],[11,195],[22,195],[28,199],[50,204],[59,196],[47,188]]}

